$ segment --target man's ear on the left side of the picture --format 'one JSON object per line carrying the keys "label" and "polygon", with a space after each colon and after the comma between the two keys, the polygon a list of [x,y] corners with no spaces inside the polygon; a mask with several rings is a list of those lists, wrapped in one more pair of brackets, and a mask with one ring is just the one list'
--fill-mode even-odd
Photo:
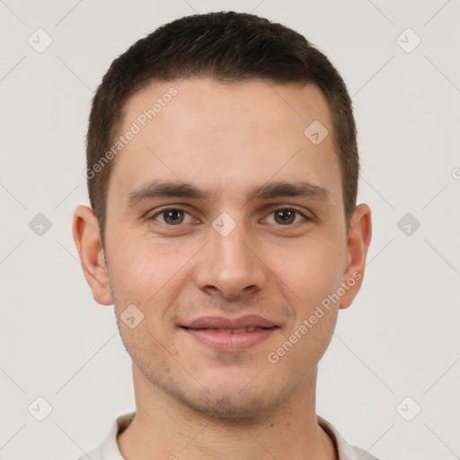
{"label": "man's ear on the left side of the picture", "polygon": [[112,305],[109,271],[104,260],[99,221],[92,208],[79,206],[75,209],[72,232],[84,278],[93,291],[94,300],[101,305]]}

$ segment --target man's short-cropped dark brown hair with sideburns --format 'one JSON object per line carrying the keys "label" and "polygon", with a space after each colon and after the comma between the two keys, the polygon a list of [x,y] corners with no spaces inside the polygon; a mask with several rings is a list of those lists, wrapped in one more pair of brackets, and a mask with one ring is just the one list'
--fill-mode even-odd
{"label": "man's short-cropped dark brown hair with sideburns", "polygon": [[93,165],[109,153],[131,95],[153,81],[188,77],[212,77],[225,83],[261,78],[276,84],[317,85],[332,114],[348,231],[356,208],[359,158],[351,99],[341,75],[296,31],[254,14],[218,12],[164,24],[117,57],[103,76],[93,98],[86,138],[86,171],[92,172],[86,174],[88,191],[100,223],[102,243],[115,158],[97,168],[97,173]]}

